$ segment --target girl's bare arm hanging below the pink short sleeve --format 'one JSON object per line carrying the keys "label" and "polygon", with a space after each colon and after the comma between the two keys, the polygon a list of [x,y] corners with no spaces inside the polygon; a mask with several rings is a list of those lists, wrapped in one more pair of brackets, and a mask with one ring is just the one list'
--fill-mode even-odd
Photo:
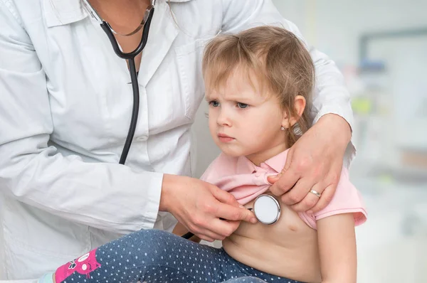
{"label": "girl's bare arm hanging below the pink short sleeve", "polygon": [[317,221],[322,283],[356,283],[357,251],[352,213]]}

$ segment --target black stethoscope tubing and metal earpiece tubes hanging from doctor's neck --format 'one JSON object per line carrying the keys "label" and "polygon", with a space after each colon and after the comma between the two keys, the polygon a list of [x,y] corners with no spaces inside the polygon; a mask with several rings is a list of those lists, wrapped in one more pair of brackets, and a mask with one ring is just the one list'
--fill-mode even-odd
{"label": "black stethoscope tubing and metal earpiece tubes hanging from doctor's neck", "polygon": [[[108,39],[110,39],[112,48],[114,49],[117,56],[127,60],[127,63],[129,64],[130,79],[132,82],[132,91],[133,91],[133,106],[132,106],[132,117],[130,119],[129,131],[127,132],[126,142],[125,142],[125,146],[123,146],[122,155],[120,155],[120,161],[119,161],[120,164],[125,164],[125,161],[127,159],[127,154],[129,153],[130,145],[132,144],[132,139],[135,135],[135,129],[137,127],[138,112],[139,112],[139,85],[138,85],[137,68],[135,66],[135,57],[137,57],[137,55],[142,52],[145,45],[147,44],[149,25],[153,18],[155,4],[156,4],[155,0],[151,1],[151,4],[145,10],[144,18],[142,18],[141,23],[135,29],[135,31],[132,31],[132,33],[121,34],[114,31],[110,26],[110,23],[107,23],[106,21],[104,21],[100,17],[100,15],[97,14],[97,12],[95,11],[95,9],[93,9],[93,7],[90,5],[88,0],[83,0],[83,5],[85,6],[86,10],[89,12],[90,16],[95,18],[95,20],[98,23],[100,23],[102,30],[105,31],[105,33],[107,34]],[[122,50],[120,49],[119,43],[117,43],[117,40],[114,37],[114,33],[120,36],[132,36],[133,34],[140,31],[141,28],[143,28],[142,37],[137,48],[135,48],[135,50],[133,50],[130,53],[122,52]]]}

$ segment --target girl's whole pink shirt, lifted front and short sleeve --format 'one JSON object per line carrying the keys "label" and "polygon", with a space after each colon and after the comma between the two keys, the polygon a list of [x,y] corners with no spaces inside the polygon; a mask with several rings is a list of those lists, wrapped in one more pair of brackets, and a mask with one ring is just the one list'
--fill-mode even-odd
{"label": "girl's whole pink shirt, lifted front and short sleeve", "polygon": [[[252,201],[270,188],[267,177],[277,175],[286,163],[288,150],[256,166],[245,156],[231,157],[220,154],[206,169],[201,180],[212,183],[218,188],[231,193],[242,205]],[[349,181],[349,173],[343,167],[341,177],[332,201],[326,208],[310,216],[298,213],[300,218],[313,229],[316,221],[331,215],[353,213],[355,225],[367,220],[367,212],[359,191]]]}

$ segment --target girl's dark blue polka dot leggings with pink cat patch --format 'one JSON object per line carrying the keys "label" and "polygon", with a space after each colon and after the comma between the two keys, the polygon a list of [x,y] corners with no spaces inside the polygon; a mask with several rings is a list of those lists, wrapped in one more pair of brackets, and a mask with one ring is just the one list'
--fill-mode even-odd
{"label": "girl's dark blue polka dot leggings with pink cat patch", "polygon": [[109,242],[56,270],[56,283],[283,282],[233,260],[223,249],[162,230],[140,230]]}

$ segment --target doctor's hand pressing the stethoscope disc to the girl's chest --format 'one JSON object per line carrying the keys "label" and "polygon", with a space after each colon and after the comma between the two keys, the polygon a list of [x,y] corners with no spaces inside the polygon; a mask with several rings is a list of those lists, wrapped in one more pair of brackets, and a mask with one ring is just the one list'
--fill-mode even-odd
{"label": "doctor's hand pressing the stethoscope disc to the girl's chest", "polygon": [[186,176],[164,174],[159,210],[172,213],[191,233],[209,242],[228,237],[242,220],[257,222],[231,193]]}

